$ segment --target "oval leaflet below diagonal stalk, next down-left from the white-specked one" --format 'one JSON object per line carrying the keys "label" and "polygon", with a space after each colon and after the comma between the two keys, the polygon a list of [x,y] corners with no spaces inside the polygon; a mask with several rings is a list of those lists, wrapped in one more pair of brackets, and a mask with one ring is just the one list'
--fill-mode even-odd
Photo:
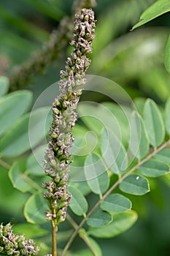
{"label": "oval leaflet below diagonal stalk, next down-left from the white-specked one", "polygon": [[128,211],[131,209],[131,201],[120,194],[111,194],[101,203],[104,211]]}

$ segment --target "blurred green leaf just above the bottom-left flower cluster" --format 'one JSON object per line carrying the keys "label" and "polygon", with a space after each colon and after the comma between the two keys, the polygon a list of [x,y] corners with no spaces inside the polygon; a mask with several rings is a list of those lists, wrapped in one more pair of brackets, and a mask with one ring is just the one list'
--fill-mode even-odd
{"label": "blurred green leaf just above the bottom-left flower cluster", "polygon": [[47,230],[42,229],[38,225],[33,225],[31,223],[22,223],[18,225],[14,225],[12,227],[12,230],[14,233],[17,233],[18,235],[24,234],[26,238],[34,238],[36,236],[44,236],[48,233]]}

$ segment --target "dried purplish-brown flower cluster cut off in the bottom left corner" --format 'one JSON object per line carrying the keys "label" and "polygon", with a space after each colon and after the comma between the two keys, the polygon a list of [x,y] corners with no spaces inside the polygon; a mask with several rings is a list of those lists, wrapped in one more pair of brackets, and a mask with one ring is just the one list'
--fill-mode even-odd
{"label": "dried purplish-brown flower cluster cut off in the bottom left corner", "polygon": [[12,232],[12,225],[0,225],[0,254],[31,256],[37,255],[39,247],[35,246],[31,239],[26,240],[25,236],[17,235]]}

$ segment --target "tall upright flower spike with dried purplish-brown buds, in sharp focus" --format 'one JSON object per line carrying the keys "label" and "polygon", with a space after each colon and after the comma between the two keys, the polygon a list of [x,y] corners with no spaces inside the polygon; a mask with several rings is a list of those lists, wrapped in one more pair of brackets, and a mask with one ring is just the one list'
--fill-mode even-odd
{"label": "tall upright flower spike with dried purplish-brown buds, in sharp focus", "polygon": [[82,94],[77,86],[86,83],[85,72],[90,66],[88,55],[92,53],[95,23],[91,9],[82,9],[80,14],[75,15],[71,42],[74,50],[66,60],[66,70],[61,70],[60,94],[53,102],[53,123],[50,125],[50,138],[45,154],[45,173],[51,180],[44,182],[42,187],[47,189],[44,197],[50,208],[46,211],[47,220],[55,220],[55,225],[66,219],[66,208],[71,199],[67,192],[71,163],[69,148],[74,141],[72,127],[77,121],[76,108]]}

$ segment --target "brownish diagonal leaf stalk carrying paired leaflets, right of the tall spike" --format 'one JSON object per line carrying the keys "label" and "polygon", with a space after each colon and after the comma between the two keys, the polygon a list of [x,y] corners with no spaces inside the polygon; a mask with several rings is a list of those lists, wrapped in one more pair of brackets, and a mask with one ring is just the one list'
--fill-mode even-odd
{"label": "brownish diagonal leaf stalk carrying paired leaflets, right of the tall spike", "polygon": [[91,214],[93,214],[93,211],[96,210],[96,208],[98,208],[98,206],[101,204],[101,202],[125,179],[127,178],[131,173],[134,173],[134,171],[136,169],[138,169],[141,165],[144,164],[144,162],[147,162],[148,160],[150,160],[152,157],[155,156],[155,154],[157,154],[159,151],[161,151],[163,148],[166,148],[166,146],[168,146],[170,144],[170,140],[167,140],[165,143],[163,143],[162,146],[160,146],[159,148],[155,148],[154,151],[152,151],[151,154],[149,154],[147,157],[145,157],[141,162],[139,162],[137,165],[135,165],[133,168],[131,168],[131,170],[128,171],[128,173],[125,173],[124,176],[122,176],[122,178],[119,178],[115,184],[112,185],[112,187],[104,194],[103,197],[101,197],[100,200],[98,200],[98,202],[96,203],[95,206],[93,206],[93,208],[88,212],[87,216],[82,219],[82,222],[80,222],[80,225],[78,225],[75,228],[74,233],[72,234],[71,238],[69,239],[68,243],[66,244],[65,248],[63,249],[62,255],[64,256],[66,255],[66,252],[69,249],[69,246],[71,246],[72,242],[74,241],[74,238],[77,236],[77,233],[79,233],[80,228],[85,224],[86,220],[88,219],[88,217],[90,217]]}

